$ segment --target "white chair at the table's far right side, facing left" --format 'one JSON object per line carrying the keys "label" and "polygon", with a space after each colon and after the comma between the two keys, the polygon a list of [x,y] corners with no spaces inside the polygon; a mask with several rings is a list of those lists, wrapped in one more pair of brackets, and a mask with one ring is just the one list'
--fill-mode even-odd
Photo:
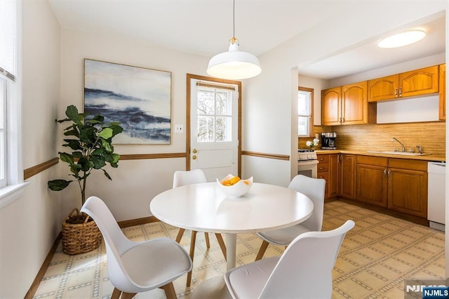
{"label": "white chair at the table's far right side, facing left", "polygon": [[309,197],[314,203],[314,211],[307,220],[304,220],[298,225],[269,232],[258,232],[257,235],[262,238],[262,245],[255,260],[260,260],[263,257],[269,244],[288,246],[299,234],[304,232],[319,232],[321,230],[321,226],[323,225],[326,180],[322,178],[309,178],[305,175],[296,175],[288,187]]}

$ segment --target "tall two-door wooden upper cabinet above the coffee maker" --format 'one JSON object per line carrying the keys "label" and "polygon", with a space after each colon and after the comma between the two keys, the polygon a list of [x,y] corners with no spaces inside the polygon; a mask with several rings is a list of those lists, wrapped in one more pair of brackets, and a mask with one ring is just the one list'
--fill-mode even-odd
{"label": "tall two-door wooden upper cabinet above the coffee maker", "polygon": [[375,123],[375,105],[368,105],[367,81],[321,92],[323,126]]}

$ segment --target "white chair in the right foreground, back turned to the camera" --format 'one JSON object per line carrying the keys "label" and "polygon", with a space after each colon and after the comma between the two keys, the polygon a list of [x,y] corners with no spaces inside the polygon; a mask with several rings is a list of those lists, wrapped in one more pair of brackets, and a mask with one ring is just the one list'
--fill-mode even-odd
{"label": "white chair in the right foreground, back turned to the camera", "polygon": [[225,283],[232,298],[330,298],[332,270],[352,220],[328,232],[304,232],[279,257],[229,270]]}

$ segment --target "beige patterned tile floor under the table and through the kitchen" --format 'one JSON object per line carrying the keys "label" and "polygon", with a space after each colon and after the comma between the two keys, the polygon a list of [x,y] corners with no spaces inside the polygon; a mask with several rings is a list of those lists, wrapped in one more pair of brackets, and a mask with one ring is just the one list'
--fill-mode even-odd
{"label": "beige patterned tile floor under the table and through the kitchen", "polygon": [[[398,220],[389,215],[333,201],[325,205],[323,230],[332,230],[348,219],[356,222],[343,241],[333,270],[333,298],[404,298],[404,279],[443,279],[444,233]],[[177,228],[161,222],[123,229],[134,240],[176,237]],[[188,251],[189,232],[181,244]],[[207,250],[198,234],[192,286],[186,275],[174,281],[178,298],[202,281],[225,273],[226,263],[215,236]],[[260,246],[255,234],[237,237],[237,265],[254,260]],[[264,257],[280,255],[283,248],[270,245]],[[34,298],[109,298],[113,290],[107,277],[104,246],[81,255],[65,255],[58,248]],[[161,290],[140,293],[136,298],[164,298]]]}

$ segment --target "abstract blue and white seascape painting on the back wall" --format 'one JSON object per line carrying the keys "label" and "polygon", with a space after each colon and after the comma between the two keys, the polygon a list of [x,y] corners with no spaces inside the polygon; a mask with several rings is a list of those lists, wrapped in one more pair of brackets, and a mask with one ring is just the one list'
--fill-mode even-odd
{"label": "abstract blue and white seascape painting on the back wall", "polygon": [[114,144],[170,144],[171,72],[84,60],[84,112],[119,121]]}

